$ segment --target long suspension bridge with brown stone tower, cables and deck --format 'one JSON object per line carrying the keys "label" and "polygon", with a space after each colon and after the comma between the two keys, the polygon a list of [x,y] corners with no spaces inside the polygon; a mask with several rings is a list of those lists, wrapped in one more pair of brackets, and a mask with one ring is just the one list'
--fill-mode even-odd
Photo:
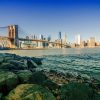
{"label": "long suspension bridge with brown stone tower, cables and deck", "polygon": [[[3,31],[2,31],[3,30]],[[4,32],[6,30],[6,32]],[[4,32],[4,33],[3,33]],[[21,36],[22,35],[22,36]],[[29,38],[18,25],[0,27],[0,48],[32,49],[32,48],[67,48],[68,44],[60,40]]]}

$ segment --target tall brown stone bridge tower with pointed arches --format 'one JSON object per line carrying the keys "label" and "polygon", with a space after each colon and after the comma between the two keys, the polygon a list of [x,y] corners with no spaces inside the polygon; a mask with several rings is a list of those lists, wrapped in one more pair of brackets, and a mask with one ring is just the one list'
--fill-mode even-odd
{"label": "tall brown stone bridge tower with pointed arches", "polygon": [[8,38],[11,40],[12,48],[19,47],[18,25],[8,26]]}

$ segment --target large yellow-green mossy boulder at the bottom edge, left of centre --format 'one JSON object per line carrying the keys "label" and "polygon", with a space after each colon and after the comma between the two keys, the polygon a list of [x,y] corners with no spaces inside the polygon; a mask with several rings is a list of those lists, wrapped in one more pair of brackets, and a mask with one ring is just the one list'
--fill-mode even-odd
{"label": "large yellow-green mossy boulder at the bottom edge, left of centre", "polygon": [[12,90],[5,100],[56,100],[53,94],[34,84],[21,84]]}

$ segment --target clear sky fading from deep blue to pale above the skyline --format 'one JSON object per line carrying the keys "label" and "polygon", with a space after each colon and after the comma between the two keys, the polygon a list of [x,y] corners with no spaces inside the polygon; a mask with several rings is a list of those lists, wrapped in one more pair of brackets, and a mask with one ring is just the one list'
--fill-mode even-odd
{"label": "clear sky fading from deep blue to pale above the skyline", "polygon": [[61,31],[69,42],[77,34],[100,41],[100,0],[0,0],[0,27],[12,24],[29,35],[57,39]]}

